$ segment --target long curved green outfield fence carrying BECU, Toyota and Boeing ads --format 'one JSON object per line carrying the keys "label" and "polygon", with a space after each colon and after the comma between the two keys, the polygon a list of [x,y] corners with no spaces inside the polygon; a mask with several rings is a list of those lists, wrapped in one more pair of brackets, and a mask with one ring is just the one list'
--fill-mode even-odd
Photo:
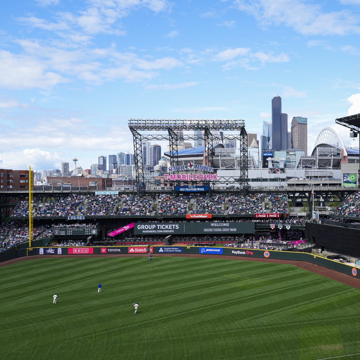
{"label": "long curved green outfield fence carrying BECU, Toyota and Boeing ads", "polygon": [[309,254],[306,252],[290,252],[290,251],[275,251],[275,250],[258,250],[247,248],[229,248],[229,247],[207,247],[205,246],[96,246],[96,247],[33,247],[27,249],[26,254],[22,252],[19,255],[17,250],[16,256],[32,256],[32,255],[105,255],[105,254],[200,254],[208,255],[223,255],[223,256],[240,256],[251,261],[252,258],[262,259],[279,259],[292,261],[307,261],[315,265],[326,267],[327,269],[335,270],[340,273],[360,278],[360,268],[343,264],[341,262],[327,259],[317,254]]}

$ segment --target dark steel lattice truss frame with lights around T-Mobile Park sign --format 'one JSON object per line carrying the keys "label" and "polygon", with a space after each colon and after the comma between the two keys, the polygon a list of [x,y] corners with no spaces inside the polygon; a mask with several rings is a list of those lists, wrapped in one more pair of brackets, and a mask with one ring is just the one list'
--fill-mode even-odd
{"label": "dark steel lattice truss frame with lights around T-Mobile Park sign", "polygon": [[[136,184],[139,197],[143,197],[147,194],[147,190],[153,185],[150,178],[145,176],[143,158],[142,141],[144,140],[157,140],[168,141],[170,150],[170,166],[179,166],[182,163],[179,162],[178,154],[178,135],[176,130],[182,130],[185,132],[191,131],[192,134],[186,133],[183,135],[182,141],[198,140],[199,135],[195,135],[195,130],[203,131],[203,140],[205,143],[205,163],[203,165],[213,166],[213,152],[212,148],[214,144],[213,130],[217,131],[231,131],[230,134],[224,134],[223,140],[237,140],[240,144],[240,159],[239,170],[240,176],[226,177],[221,179],[227,184],[237,184],[239,190],[245,195],[248,190],[248,154],[247,154],[247,132],[245,130],[245,122],[242,119],[130,119],[129,129],[134,138],[134,156],[135,156],[135,173]],[[186,181],[182,181],[186,183]],[[204,183],[204,182],[203,182]],[[204,183],[205,184],[205,183]],[[171,183],[171,188],[174,193],[174,184]],[[179,184],[180,185],[180,182]],[[209,186],[210,194],[213,192],[214,183],[208,181],[206,185]]]}

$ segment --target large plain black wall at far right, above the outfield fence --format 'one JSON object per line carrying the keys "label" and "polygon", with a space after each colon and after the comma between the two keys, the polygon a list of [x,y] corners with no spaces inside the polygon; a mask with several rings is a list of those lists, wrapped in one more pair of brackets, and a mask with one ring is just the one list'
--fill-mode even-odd
{"label": "large plain black wall at far right, above the outfield fence", "polygon": [[360,257],[360,230],[307,222],[305,231],[306,238],[323,250]]}

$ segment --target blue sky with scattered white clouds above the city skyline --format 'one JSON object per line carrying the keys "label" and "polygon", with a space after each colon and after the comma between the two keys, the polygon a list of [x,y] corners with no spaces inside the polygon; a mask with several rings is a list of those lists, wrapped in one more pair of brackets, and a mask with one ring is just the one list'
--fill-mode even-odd
{"label": "blue sky with scattered white clouds above the city skyline", "polygon": [[0,167],[132,148],[129,118],[308,118],[308,144],[360,112],[360,0],[27,0],[0,5]]}

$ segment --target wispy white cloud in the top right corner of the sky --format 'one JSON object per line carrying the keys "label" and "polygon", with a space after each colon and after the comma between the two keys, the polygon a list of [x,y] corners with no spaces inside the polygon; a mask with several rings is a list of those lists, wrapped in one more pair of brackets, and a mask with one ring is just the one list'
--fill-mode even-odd
{"label": "wispy white cloud in the top right corner of the sky", "polygon": [[359,16],[347,10],[325,12],[320,5],[299,0],[235,0],[241,11],[263,27],[287,26],[304,35],[359,34]]}

